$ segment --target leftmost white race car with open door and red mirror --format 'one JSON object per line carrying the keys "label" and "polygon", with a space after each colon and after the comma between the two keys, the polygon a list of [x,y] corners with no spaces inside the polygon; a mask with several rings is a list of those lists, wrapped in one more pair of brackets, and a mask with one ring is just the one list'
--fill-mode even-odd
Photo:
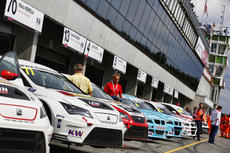
{"label": "leftmost white race car with open door and red mirror", "polygon": [[16,54],[7,52],[0,59],[0,152],[49,153],[53,127],[41,101],[8,81],[19,77]]}

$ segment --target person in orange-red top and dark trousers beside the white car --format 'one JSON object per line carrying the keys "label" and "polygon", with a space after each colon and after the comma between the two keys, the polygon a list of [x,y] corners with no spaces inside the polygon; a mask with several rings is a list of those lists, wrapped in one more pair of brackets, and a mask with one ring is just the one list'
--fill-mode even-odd
{"label": "person in orange-red top and dark trousers beside the white car", "polygon": [[197,133],[196,133],[197,140],[200,141],[200,134],[202,133],[202,120],[204,116],[204,109],[202,103],[199,104],[199,108],[197,112],[194,114],[194,116],[195,116],[195,122],[197,126]]}

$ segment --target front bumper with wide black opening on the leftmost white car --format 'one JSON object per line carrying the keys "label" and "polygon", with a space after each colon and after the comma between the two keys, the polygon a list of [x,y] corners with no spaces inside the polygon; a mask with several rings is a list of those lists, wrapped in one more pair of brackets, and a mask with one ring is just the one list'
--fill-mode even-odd
{"label": "front bumper with wide black opening on the leftmost white car", "polygon": [[[14,120],[15,121],[15,120]],[[43,122],[0,122],[0,152],[49,153],[53,127]],[[8,150],[7,150],[8,149]]]}

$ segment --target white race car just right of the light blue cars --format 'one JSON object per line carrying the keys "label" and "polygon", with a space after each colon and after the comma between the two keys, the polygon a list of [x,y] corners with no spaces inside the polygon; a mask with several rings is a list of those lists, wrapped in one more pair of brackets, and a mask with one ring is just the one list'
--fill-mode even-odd
{"label": "white race car just right of the light blue cars", "polygon": [[168,104],[168,103],[161,103],[164,105],[168,110],[170,110],[175,116],[178,116],[178,120],[182,122],[183,126],[183,133],[182,136],[196,136],[197,127],[196,123],[194,122],[192,116],[186,112],[183,108]]}

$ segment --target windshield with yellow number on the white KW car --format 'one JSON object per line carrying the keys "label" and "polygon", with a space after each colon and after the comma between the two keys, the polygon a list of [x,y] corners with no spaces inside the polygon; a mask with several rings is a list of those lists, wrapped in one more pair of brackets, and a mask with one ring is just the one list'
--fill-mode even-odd
{"label": "windshield with yellow number on the white KW car", "polygon": [[78,89],[71,81],[69,81],[64,76],[59,75],[58,73],[54,74],[36,69],[30,69],[29,71],[28,69],[22,68],[22,70],[36,85],[83,94],[83,92]]}

